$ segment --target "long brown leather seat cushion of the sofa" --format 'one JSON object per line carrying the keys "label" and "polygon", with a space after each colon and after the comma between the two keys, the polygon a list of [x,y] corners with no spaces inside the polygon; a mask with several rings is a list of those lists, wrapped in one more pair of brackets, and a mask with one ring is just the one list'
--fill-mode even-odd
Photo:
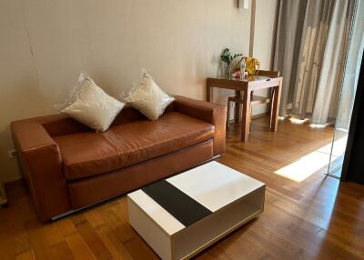
{"label": "long brown leather seat cushion of the sofa", "polygon": [[177,112],[157,121],[116,125],[105,133],[56,136],[66,179],[105,174],[213,138],[214,125]]}

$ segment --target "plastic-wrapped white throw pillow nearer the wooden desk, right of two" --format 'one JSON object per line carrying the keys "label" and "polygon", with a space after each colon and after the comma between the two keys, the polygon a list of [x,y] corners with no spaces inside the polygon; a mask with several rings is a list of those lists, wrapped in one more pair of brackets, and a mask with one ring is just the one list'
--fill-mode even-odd
{"label": "plastic-wrapped white throw pillow nearer the wooden desk, right of two", "polygon": [[127,105],[136,108],[150,120],[157,120],[165,112],[167,105],[174,100],[175,98],[167,95],[145,70],[142,70],[139,84],[126,97]]}

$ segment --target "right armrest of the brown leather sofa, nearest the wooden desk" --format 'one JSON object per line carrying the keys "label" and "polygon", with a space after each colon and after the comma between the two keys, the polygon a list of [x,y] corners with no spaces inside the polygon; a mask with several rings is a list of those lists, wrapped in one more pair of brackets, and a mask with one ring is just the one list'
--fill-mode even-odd
{"label": "right armrest of the brown leather sofa, nearest the wooden desk", "polygon": [[221,155],[226,149],[227,106],[200,101],[177,95],[173,103],[174,110],[196,117],[215,125],[214,155]]}

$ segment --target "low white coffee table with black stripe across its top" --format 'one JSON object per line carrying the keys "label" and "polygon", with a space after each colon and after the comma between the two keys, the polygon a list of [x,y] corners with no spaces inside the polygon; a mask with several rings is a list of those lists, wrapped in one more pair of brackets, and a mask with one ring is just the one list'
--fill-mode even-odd
{"label": "low white coffee table with black stripe across its top", "polygon": [[265,188],[211,162],[128,194],[129,222],[162,259],[187,259],[260,215]]}

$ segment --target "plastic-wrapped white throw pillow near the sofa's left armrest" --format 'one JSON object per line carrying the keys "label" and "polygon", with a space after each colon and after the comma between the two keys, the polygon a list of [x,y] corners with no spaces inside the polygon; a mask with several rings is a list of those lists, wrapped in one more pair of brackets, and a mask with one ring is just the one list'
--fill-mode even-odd
{"label": "plastic-wrapped white throw pillow near the sofa's left armrest", "polygon": [[106,131],[124,107],[124,103],[107,95],[90,77],[82,78],[80,85],[66,102],[62,113],[71,116],[96,131]]}

